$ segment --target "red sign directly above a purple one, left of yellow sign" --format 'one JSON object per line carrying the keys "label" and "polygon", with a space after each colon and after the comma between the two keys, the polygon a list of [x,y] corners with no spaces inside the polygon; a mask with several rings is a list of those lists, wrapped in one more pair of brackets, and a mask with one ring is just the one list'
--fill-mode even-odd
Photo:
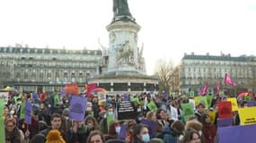
{"label": "red sign directly above a purple one, left of yellow sign", "polygon": [[219,102],[217,103],[217,106],[218,106],[217,111],[218,111],[219,119],[233,117],[232,105],[230,101]]}

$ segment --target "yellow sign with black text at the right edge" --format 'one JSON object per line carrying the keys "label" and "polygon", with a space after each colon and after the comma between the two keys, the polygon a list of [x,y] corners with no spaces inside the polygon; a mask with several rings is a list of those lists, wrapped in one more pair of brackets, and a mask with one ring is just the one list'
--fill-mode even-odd
{"label": "yellow sign with black text at the right edge", "polygon": [[238,109],[242,125],[256,124],[256,106]]}

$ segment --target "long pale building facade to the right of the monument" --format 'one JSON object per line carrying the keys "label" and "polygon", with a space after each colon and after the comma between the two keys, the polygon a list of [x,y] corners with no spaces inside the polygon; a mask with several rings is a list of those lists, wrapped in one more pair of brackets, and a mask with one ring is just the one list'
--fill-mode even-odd
{"label": "long pale building facade to the right of the monument", "polygon": [[[256,91],[256,57],[241,55],[184,55],[181,60],[180,89],[182,93],[189,90],[199,93],[206,83],[208,92],[216,94],[216,82],[230,95],[243,90]],[[235,81],[236,87],[224,84],[225,73]]]}

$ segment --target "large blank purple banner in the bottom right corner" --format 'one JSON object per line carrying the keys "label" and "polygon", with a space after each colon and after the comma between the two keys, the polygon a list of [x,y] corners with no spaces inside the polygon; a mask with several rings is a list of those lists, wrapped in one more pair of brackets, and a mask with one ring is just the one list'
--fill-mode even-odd
{"label": "large blank purple banner in the bottom right corner", "polygon": [[219,128],[219,143],[255,143],[256,125]]}

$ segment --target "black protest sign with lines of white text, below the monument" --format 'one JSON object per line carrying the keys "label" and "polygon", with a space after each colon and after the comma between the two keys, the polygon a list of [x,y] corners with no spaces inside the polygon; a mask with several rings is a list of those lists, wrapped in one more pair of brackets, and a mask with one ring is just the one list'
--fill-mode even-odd
{"label": "black protest sign with lines of white text, below the monument", "polygon": [[137,112],[129,101],[120,101],[118,103],[118,120],[136,119]]}

